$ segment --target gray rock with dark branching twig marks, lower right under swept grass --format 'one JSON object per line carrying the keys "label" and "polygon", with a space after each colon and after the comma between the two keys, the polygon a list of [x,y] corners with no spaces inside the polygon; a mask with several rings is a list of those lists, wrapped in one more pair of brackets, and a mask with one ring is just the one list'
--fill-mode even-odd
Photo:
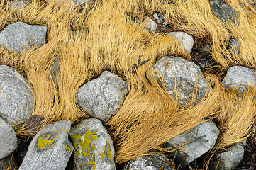
{"label": "gray rock with dark branching twig marks, lower right under swept grass", "polygon": [[[168,140],[164,146],[176,148],[177,154],[174,161],[185,166],[208,152],[215,145],[219,132],[212,121],[204,122]],[[174,154],[174,152],[171,153]]]}

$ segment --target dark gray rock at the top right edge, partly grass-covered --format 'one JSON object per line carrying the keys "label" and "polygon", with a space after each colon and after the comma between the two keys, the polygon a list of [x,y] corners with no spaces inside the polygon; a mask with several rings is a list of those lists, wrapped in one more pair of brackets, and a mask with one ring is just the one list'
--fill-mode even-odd
{"label": "dark gray rock at the top right edge, partly grass-covered", "polygon": [[231,8],[230,6],[228,6],[228,4],[225,4],[223,1],[212,0],[210,7],[213,14],[216,15],[218,18],[225,21],[231,21],[233,23],[239,22],[238,11]]}

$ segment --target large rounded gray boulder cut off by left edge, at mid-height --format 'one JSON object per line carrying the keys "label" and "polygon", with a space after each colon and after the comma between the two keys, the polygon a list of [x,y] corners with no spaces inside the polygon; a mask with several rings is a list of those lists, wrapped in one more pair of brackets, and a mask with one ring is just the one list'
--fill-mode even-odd
{"label": "large rounded gray boulder cut off by left edge, at mid-height", "polygon": [[33,89],[15,69],[0,66],[0,116],[9,123],[24,123],[35,104]]}

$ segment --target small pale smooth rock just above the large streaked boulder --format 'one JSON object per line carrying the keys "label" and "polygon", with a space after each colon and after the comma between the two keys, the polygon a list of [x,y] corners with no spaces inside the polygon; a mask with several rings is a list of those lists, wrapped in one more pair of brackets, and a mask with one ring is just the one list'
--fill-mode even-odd
{"label": "small pale smooth rock just above the large streaked boulder", "polygon": [[194,40],[191,35],[184,32],[170,32],[167,36],[172,36],[175,40],[178,40],[184,45],[185,50],[190,53],[194,45]]}

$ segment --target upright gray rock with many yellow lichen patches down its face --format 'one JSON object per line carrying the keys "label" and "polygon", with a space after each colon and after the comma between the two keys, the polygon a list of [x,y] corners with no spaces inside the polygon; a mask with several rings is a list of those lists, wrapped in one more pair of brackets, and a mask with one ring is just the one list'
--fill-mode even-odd
{"label": "upright gray rock with many yellow lichen patches down its face", "polygon": [[100,120],[82,120],[69,135],[74,145],[74,169],[116,169],[113,141]]}

